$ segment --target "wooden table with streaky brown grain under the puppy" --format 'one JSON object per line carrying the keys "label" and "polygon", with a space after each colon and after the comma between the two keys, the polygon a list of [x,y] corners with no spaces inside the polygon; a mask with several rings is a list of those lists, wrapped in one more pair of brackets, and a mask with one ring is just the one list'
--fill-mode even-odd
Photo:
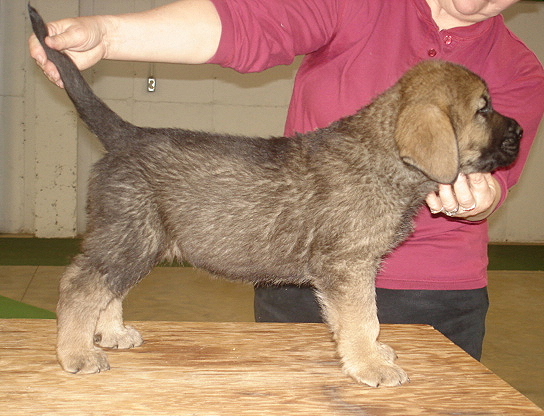
{"label": "wooden table with streaky brown grain under the puppy", "polygon": [[411,382],[345,376],[322,324],[134,322],[145,344],[112,370],[64,373],[53,320],[0,320],[2,415],[544,415],[423,325],[384,325]]}

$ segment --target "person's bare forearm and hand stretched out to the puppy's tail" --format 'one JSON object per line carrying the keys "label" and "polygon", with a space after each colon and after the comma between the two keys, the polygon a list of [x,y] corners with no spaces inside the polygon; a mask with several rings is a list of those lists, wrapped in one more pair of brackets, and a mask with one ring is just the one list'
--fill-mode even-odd
{"label": "person's bare forearm and hand stretched out to the puppy's tail", "polygon": [[[181,0],[145,12],[86,16],[48,24],[47,44],[86,69],[101,59],[198,64],[217,51],[221,21],[210,0]],[[55,66],[35,36],[31,56],[51,81],[62,86]]]}

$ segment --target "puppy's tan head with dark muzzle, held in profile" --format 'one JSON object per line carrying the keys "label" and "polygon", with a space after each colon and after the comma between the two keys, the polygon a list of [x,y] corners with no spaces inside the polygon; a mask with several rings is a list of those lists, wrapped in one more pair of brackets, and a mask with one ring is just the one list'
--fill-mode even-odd
{"label": "puppy's tan head with dark muzzle, held in profile", "polygon": [[425,61],[398,83],[395,139],[402,160],[431,180],[491,172],[514,162],[522,130],[491,105],[485,82],[466,68]]}

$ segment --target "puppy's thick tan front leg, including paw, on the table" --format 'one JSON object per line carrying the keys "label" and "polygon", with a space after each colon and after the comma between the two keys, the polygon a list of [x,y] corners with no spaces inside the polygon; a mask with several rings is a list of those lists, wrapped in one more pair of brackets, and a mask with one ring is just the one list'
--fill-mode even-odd
{"label": "puppy's thick tan front leg, including paw, on the table", "polygon": [[[399,386],[408,381],[394,363],[395,351],[378,341],[374,274],[352,274],[345,267],[329,284],[318,285],[324,316],[333,332],[346,374],[371,387]],[[348,277],[349,276],[349,277]]]}

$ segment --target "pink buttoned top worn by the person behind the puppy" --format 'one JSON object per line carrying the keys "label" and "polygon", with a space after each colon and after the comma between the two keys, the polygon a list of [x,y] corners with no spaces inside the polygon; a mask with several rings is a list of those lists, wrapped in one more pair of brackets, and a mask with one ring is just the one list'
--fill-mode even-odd
{"label": "pink buttoned top worn by the person behind the puppy", "polygon": [[[544,112],[544,71],[502,16],[439,30],[425,0],[213,1],[223,32],[210,62],[256,72],[306,55],[287,135],[352,114],[417,62],[443,59],[481,75],[494,107],[523,126],[518,161],[495,173],[503,199],[518,181]],[[484,287],[487,243],[486,221],[449,219],[423,207],[414,234],[385,260],[376,284],[388,289]]]}

